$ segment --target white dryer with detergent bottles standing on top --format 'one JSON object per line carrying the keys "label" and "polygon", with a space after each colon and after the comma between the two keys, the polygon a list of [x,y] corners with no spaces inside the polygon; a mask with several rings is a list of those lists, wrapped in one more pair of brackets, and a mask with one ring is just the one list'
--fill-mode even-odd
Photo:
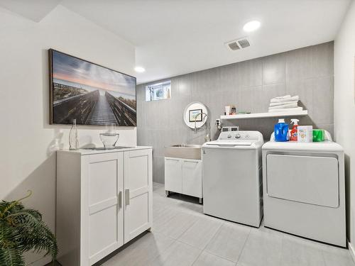
{"label": "white dryer with detergent bottles standing on top", "polygon": [[264,225],[345,247],[344,151],[326,135],[263,145]]}

